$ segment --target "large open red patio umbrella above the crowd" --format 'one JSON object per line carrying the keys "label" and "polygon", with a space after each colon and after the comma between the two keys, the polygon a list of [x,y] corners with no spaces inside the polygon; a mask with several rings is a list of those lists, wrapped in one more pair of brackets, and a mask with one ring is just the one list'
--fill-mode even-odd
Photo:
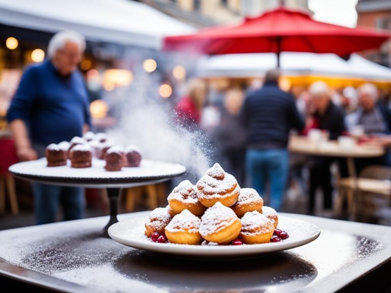
{"label": "large open red patio umbrella above the crowd", "polygon": [[350,53],[378,48],[389,33],[369,28],[349,28],[312,19],[301,11],[280,7],[246,18],[236,26],[215,26],[197,34],[170,36],[164,50],[205,54],[280,52],[334,53],[347,58]]}

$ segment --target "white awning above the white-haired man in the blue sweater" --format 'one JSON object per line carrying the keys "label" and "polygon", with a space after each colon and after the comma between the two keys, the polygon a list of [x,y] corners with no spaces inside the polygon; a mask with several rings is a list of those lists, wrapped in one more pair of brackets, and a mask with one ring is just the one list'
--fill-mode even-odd
{"label": "white awning above the white-haired man in the blue sweater", "polygon": [[91,41],[160,49],[166,35],[193,28],[129,0],[0,0],[0,23],[56,33],[74,30]]}

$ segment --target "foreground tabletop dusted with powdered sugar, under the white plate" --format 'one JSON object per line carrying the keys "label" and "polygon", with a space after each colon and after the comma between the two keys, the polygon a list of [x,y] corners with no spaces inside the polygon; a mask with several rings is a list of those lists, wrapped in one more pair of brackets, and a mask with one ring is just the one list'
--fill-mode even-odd
{"label": "foreground tabletop dusted with powdered sugar, under the white plate", "polygon": [[391,227],[281,214],[318,225],[320,237],[260,258],[207,261],[96,238],[107,221],[99,217],[0,231],[0,275],[67,292],[334,292],[390,263]]}

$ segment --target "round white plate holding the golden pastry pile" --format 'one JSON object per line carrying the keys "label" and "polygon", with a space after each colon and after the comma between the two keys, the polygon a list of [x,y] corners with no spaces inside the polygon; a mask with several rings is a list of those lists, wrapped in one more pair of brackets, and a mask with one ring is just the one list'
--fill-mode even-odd
{"label": "round white plate holding the golden pastry pile", "polygon": [[279,216],[278,228],[287,231],[289,234],[289,238],[282,242],[240,246],[154,243],[144,234],[144,224],[147,221],[148,216],[115,223],[108,228],[108,235],[115,241],[134,248],[176,255],[203,257],[236,257],[282,251],[310,243],[320,235],[319,227],[310,222]]}

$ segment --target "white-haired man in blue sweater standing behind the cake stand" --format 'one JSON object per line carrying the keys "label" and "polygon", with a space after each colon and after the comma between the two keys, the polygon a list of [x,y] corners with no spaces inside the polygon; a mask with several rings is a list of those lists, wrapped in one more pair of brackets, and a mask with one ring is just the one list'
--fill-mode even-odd
{"label": "white-haired man in blue sweater standing behind the cake stand", "polygon": [[[24,71],[7,119],[20,161],[44,157],[50,143],[69,141],[89,128],[89,98],[77,65],[86,48],[76,32],[60,32],[48,45],[48,59]],[[65,220],[84,213],[80,188],[33,184],[37,224],[54,222],[60,202]]]}

